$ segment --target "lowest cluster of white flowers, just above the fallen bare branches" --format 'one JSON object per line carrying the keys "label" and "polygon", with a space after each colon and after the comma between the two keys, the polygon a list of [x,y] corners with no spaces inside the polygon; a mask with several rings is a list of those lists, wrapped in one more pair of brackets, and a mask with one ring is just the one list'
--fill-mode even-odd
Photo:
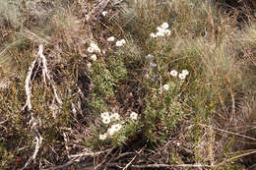
{"label": "lowest cluster of white flowers, just above the fallen bare branches", "polygon": [[[102,119],[102,123],[109,125],[111,121],[118,121],[120,120],[120,115],[117,112],[109,113],[103,112],[100,114]],[[132,120],[137,120],[138,114],[136,112],[132,112],[130,115]],[[116,122],[115,122],[116,123]],[[99,134],[98,139],[104,141],[107,137],[112,137],[115,133],[117,133],[122,128],[121,124],[113,124],[110,128],[107,129],[105,134]]]}

